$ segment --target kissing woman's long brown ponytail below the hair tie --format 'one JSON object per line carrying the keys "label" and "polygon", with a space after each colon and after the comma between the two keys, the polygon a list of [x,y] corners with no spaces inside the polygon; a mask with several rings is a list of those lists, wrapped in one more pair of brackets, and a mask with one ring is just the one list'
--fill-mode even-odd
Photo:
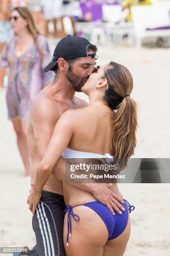
{"label": "kissing woman's long brown ponytail below the hair tie", "polygon": [[136,102],[125,97],[111,120],[111,149],[115,159],[128,159],[134,154],[137,125]]}

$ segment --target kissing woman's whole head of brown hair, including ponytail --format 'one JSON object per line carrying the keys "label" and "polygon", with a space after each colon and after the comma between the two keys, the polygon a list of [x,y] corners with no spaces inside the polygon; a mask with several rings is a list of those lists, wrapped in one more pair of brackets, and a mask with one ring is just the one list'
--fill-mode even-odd
{"label": "kissing woman's whole head of brown hair, including ponytail", "polygon": [[111,149],[115,159],[128,159],[134,154],[137,130],[137,104],[130,97],[133,78],[129,70],[115,62],[110,62],[104,73],[108,90],[104,99],[115,110],[111,116]]}

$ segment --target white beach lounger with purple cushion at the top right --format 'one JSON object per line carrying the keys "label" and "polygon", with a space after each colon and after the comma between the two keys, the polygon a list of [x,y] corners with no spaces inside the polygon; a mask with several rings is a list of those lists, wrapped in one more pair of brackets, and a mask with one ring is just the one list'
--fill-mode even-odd
{"label": "white beach lounger with purple cushion at the top right", "polygon": [[137,47],[141,47],[143,38],[170,36],[170,29],[146,30],[170,26],[169,8],[164,5],[132,6],[133,36]]}

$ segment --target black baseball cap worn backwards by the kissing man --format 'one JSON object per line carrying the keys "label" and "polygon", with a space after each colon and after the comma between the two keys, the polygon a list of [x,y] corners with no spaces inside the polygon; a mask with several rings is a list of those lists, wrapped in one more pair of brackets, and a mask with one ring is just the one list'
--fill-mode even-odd
{"label": "black baseball cap worn backwards by the kissing man", "polygon": [[91,43],[79,36],[66,36],[60,40],[54,50],[54,54],[52,57],[52,61],[43,69],[44,72],[48,72],[49,70],[54,71],[54,66],[57,64],[59,58],[63,59],[76,59],[80,57],[91,56],[92,59],[98,59],[98,56],[93,54],[88,54],[88,46]]}

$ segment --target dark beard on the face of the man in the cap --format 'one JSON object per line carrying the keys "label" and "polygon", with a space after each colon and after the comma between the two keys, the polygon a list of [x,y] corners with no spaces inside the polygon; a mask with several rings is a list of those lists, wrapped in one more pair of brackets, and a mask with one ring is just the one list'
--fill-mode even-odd
{"label": "dark beard on the face of the man in the cap", "polygon": [[84,85],[85,81],[89,78],[88,76],[85,77],[80,77],[77,74],[72,72],[72,69],[68,68],[67,73],[66,73],[66,78],[72,85],[72,88],[76,92],[81,92],[81,87]]}

